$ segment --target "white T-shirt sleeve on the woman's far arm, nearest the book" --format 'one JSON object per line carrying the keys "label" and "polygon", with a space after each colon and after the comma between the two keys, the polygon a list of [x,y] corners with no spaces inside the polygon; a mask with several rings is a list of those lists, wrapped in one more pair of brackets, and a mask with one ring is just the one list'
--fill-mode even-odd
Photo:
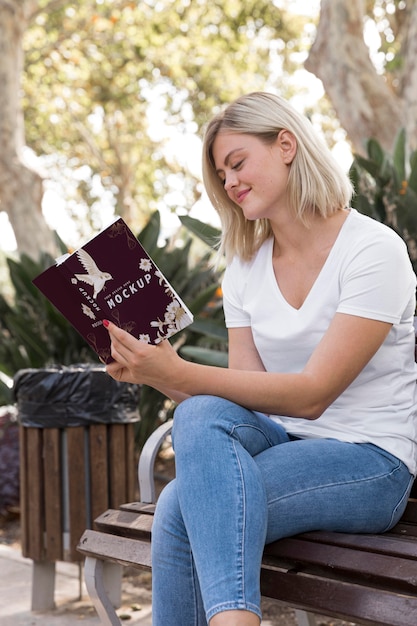
{"label": "white T-shirt sleeve on the woman's far arm, nearest the book", "polygon": [[251,325],[250,317],[243,308],[246,279],[242,265],[242,262],[235,257],[227,266],[222,281],[223,309],[227,328]]}

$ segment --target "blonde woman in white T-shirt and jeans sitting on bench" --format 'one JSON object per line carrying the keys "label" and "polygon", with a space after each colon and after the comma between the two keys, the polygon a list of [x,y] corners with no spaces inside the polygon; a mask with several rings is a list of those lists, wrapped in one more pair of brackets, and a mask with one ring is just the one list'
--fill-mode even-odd
{"label": "blonde woman in white T-shirt and jeans sitting on bench", "polygon": [[227,370],[106,322],[117,380],[179,403],[176,479],[155,514],[155,626],[255,626],[265,543],[380,533],[416,473],[416,279],[404,242],[349,209],[351,185],[281,98],[208,125],[220,214]]}

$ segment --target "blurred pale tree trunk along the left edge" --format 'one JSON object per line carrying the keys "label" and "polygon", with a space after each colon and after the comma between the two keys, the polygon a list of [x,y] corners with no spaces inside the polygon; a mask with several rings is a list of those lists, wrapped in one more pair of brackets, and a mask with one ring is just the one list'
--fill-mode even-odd
{"label": "blurred pale tree trunk along the left edge", "polygon": [[19,252],[38,259],[56,253],[54,235],[42,214],[42,178],[23,159],[24,126],[19,102],[23,67],[25,0],[0,0],[0,210],[9,216]]}

